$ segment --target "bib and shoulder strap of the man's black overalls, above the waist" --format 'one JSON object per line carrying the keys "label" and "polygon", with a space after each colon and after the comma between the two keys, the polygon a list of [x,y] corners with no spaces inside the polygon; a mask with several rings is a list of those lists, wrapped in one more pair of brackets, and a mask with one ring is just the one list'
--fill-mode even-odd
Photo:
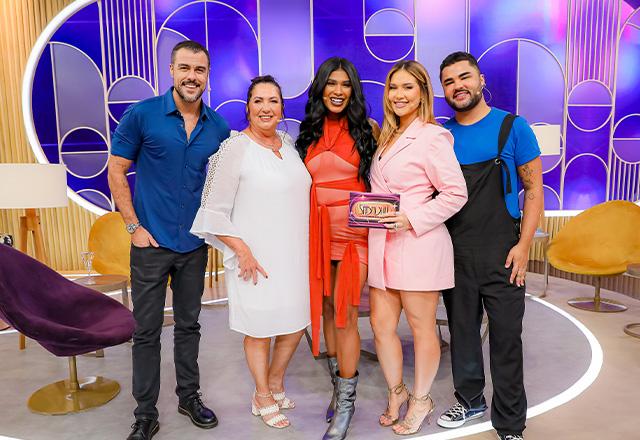
{"label": "bib and shoulder strap of the man's black overalls, above the waist", "polygon": [[469,200],[446,223],[454,248],[502,247],[518,238],[517,223],[505,203],[502,169],[507,179],[507,193],[513,191],[511,176],[500,158],[515,118],[515,115],[507,114],[502,121],[494,159],[460,166],[467,183]]}

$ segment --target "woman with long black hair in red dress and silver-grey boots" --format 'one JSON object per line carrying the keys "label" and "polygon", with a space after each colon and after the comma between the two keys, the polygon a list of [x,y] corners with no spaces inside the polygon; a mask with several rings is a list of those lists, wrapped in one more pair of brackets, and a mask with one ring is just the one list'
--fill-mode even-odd
{"label": "woman with long black hair in red dress and silver-grey boots", "polygon": [[[333,57],[318,68],[296,148],[312,178],[310,287],[313,353],[320,322],[334,385],[323,440],[346,437],[355,410],[360,335],[358,306],[367,278],[367,229],[347,226],[349,192],[369,188],[379,132],[367,118],[360,77],[351,62]],[[336,401],[340,404],[336,405]]]}

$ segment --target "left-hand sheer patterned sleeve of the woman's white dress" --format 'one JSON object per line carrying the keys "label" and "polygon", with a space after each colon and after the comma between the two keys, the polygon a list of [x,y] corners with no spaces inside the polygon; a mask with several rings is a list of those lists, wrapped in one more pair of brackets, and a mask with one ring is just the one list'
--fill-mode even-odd
{"label": "left-hand sheer patterned sleeve of the woman's white dress", "polygon": [[242,238],[231,222],[231,213],[240,182],[246,142],[241,133],[232,133],[218,151],[209,158],[209,170],[202,190],[202,203],[191,226],[191,233],[208,244],[225,250],[216,237],[224,235]]}

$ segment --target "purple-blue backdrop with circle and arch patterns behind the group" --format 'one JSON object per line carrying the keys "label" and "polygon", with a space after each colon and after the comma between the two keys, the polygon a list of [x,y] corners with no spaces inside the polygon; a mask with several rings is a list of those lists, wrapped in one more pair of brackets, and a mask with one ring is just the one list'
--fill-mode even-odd
{"label": "purple-blue backdrop with circle and arch patterns behind the group", "polygon": [[469,50],[490,104],[546,133],[547,209],[640,198],[640,0],[78,0],[34,48],[26,124],[36,155],[67,166],[87,208],[113,209],[110,133],[128,105],[170,86],[171,47],[187,38],[210,50],[204,99],[232,128],[244,126],[249,79],[270,73],[294,136],[313,72],[330,56],[355,63],[379,121],[386,72],[419,60],[444,120],[438,66]]}

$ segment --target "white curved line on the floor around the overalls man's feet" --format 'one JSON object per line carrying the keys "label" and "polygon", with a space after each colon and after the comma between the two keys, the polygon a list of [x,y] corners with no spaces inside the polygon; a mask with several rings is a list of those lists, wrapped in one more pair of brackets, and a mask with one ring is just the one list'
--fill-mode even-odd
{"label": "white curved line on the floor around the overalls man's feet", "polygon": [[[598,342],[598,339],[595,337],[595,335],[591,333],[591,331],[583,323],[578,321],[578,319],[576,319],[573,315],[569,314],[565,310],[562,310],[558,306],[541,300],[540,298],[536,298],[529,294],[527,294],[527,297],[529,297],[532,301],[538,302],[543,306],[550,308],[554,312],[568,319],[587,338],[589,347],[591,348],[591,362],[589,364],[589,368],[587,368],[587,371],[582,375],[582,377],[580,377],[580,379],[578,379],[573,385],[562,391],[560,394],[557,394],[550,399],[545,400],[544,402],[532,406],[531,408],[527,408],[527,419],[531,419],[535,416],[539,416],[540,414],[550,411],[553,408],[557,408],[560,405],[564,405],[565,403],[578,397],[584,390],[589,388],[589,386],[598,377],[598,374],[600,374],[604,356],[602,352],[602,346]],[[491,426],[491,422],[483,422],[476,425],[467,426],[465,428],[457,428],[413,438],[424,440],[448,440],[460,438],[467,435],[478,434],[481,432],[490,431],[492,429],[493,426]]]}

